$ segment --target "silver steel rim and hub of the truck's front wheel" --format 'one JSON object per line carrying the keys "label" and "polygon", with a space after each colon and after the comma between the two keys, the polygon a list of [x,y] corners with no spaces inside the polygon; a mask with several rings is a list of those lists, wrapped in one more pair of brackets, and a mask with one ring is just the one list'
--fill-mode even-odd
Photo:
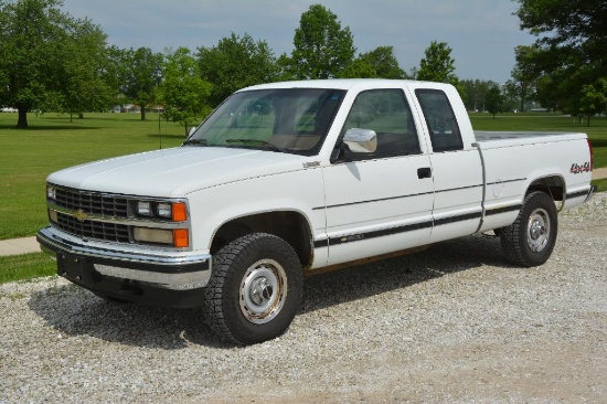
{"label": "silver steel rim and hub of the truck's front wheel", "polygon": [[255,323],[271,321],[287,298],[287,274],[274,259],[262,259],[245,273],[239,289],[239,305],[244,317]]}

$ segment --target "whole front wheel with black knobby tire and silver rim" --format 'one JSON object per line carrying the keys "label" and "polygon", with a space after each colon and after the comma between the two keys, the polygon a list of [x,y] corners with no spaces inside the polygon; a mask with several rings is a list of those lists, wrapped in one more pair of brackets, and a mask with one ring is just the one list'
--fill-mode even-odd
{"label": "whole front wheel with black knobby tire and silver rim", "polygon": [[302,294],[301,265],[292,247],[265,233],[236,238],[213,257],[204,293],[211,329],[236,344],[252,344],[283,334]]}

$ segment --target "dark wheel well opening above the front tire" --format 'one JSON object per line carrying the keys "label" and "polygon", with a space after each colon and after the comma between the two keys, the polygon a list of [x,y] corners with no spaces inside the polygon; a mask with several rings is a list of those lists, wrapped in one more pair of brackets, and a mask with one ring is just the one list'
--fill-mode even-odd
{"label": "dark wheel well opening above the front tire", "polygon": [[267,212],[234,219],[224,223],[215,233],[211,254],[225,244],[251,233],[274,234],[291,245],[302,267],[312,263],[312,236],[306,217],[297,212]]}

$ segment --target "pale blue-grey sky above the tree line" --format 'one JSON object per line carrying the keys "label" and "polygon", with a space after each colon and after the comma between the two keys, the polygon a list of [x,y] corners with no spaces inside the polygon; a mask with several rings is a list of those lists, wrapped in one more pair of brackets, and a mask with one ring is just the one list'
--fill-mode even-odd
{"label": "pale blue-grey sky above the tree line", "polygon": [[514,47],[535,38],[519,29],[515,0],[64,0],[63,10],[88,18],[121,49],[195,52],[235,33],[266,41],[275,56],[290,54],[299,19],[311,4],[349,26],[356,55],[393,46],[407,73],[419,66],[432,41],[446,42],[460,79],[504,83]]}

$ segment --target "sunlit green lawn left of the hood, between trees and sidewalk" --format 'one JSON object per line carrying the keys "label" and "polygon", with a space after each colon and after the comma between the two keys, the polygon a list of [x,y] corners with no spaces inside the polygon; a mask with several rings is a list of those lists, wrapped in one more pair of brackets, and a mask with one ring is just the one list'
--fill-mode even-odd
{"label": "sunlit green lawn left of the hood, between trees and sidewalk", "polygon": [[15,129],[17,114],[0,114],[0,240],[30,236],[46,220],[44,180],[58,169],[160,147],[179,146],[184,129],[148,114],[56,114],[28,116],[29,129]]}

